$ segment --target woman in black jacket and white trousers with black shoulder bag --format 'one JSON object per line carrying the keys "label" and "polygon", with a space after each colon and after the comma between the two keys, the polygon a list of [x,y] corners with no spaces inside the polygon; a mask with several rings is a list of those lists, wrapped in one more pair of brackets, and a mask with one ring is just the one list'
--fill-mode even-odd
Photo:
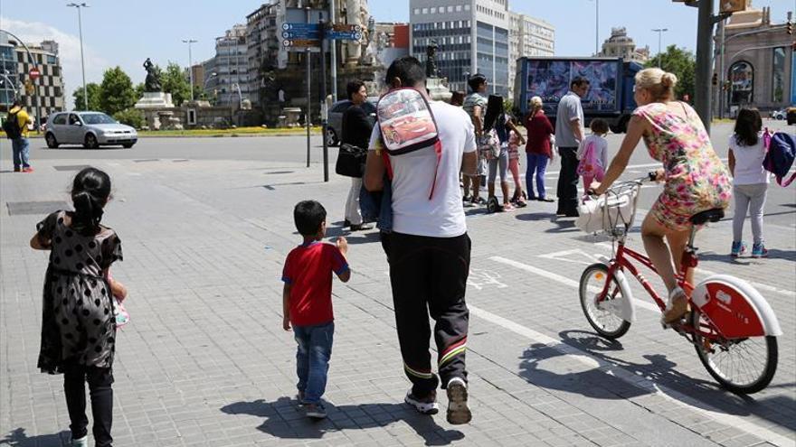
{"label": "woman in black jacket and white trousers with black shoulder bag", "polygon": [[[367,151],[370,134],[373,131],[371,119],[362,108],[367,99],[367,88],[365,88],[365,82],[357,79],[348,83],[346,91],[348,99],[353,103],[353,106],[348,107],[343,112],[340,147],[343,148],[344,145],[348,144],[364,155]],[[360,172],[365,172],[365,156],[362,156],[361,160],[363,164]],[[360,190],[362,190],[362,175],[351,177],[351,188],[348,190],[348,198],[346,199],[345,220],[345,226],[350,228],[351,231],[373,228],[366,225],[362,219],[362,210],[359,208]]]}

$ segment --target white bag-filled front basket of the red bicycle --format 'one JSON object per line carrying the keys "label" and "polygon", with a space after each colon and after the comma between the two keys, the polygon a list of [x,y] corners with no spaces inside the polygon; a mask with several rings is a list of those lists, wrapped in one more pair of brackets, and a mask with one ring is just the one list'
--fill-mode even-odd
{"label": "white bag-filled front basket of the red bicycle", "polygon": [[579,217],[575,226],[587,233],[626,232],[635,213],[637,188],[621,188],[607,191],[596,199],[586,199],[578,207]]}

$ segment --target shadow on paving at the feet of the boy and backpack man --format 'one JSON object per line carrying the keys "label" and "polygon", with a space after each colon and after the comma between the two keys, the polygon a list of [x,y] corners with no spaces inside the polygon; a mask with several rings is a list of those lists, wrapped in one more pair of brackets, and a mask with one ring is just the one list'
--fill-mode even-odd
{"label": "shadow on paving at the feet of the boy and backpack man", "polygon": [[[386,427],[403,421],[422,436],[426,445],[448,445],[464,438],[458,430],[445,430],[433,416],[417,413],[405,404],[332,405],[327,403],[327,419],[308,418],[299,402],[290,397],[280,397],[276,402],[262,399],[253,402],[236,402],[224,406],[225,414],[249,414],[267,418],[257,427],[263,433],[287,439],[320,439],[326,433],[341,430]],[[439,416],[437,416],[439,417]]]}

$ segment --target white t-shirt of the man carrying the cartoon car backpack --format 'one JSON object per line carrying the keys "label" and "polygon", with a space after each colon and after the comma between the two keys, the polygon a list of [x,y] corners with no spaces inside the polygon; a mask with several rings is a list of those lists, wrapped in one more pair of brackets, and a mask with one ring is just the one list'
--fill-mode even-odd
{"label": "white t-shirt of the man carrying the cartoon car backpack", "polygon": [[[472,120],[460,107],[431,101],[442,156],[434,195],[429,200],[437,154],[433,146],[409,154],[390,155],[393,166],[393,231],[414,236],[457,237],[467,232],[461,204],[459,172],[464,153],[475,152]],[[370,150],[381,145],[374,126]]]}

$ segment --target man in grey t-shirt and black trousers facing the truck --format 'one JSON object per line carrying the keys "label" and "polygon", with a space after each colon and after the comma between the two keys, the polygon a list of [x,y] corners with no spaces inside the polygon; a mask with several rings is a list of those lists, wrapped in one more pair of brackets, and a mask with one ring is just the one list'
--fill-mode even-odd
{"label": "man in grey t-shirt and black trousers facing the truck", "polygon": [[555,214],[578,217],[578,146],[583,141],[583,106],[581,98],[589,91],[589,79],[575,77],[570,89],[558,103],[555,114],[555,143],[561,154],[558,175],[558,210]]}

